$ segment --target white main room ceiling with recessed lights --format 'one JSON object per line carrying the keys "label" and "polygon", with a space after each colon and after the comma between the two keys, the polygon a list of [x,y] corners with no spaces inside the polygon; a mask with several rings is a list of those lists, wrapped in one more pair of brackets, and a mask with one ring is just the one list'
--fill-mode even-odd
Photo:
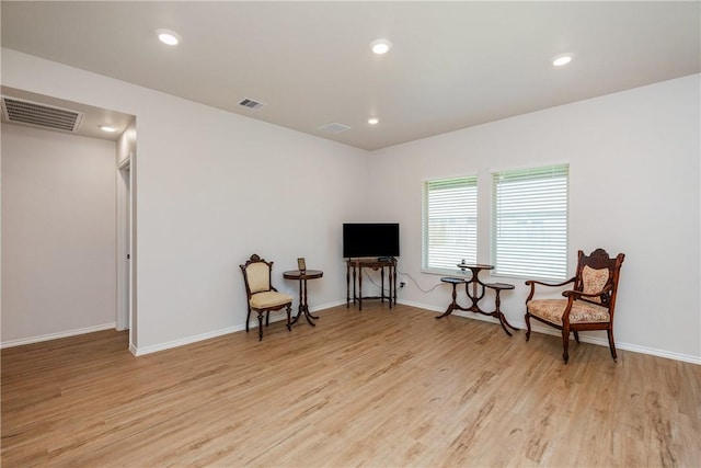
{"label": "white main room ceiling with recessed lights", "polygon": [[[700,71],[701,2],[2,1],[2,46],[368,150]],[[169,47],[157,28],[182,43]],[[384,56],[369,43],[387,37]],[[566,67],[552,57],[574,54]],[[260,110],[243,99],[265,103]],[[380,123],[370,126],[369,116]],[[349,130],[329,134],[330,123]]]}

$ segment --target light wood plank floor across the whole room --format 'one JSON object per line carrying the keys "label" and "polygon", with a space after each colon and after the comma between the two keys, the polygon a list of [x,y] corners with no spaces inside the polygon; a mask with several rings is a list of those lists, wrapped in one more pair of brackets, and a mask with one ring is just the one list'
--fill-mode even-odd
{"label": "light wood plank floor across the whole room", "polygon": [[2,466],[701,464],[701,366],[378,303],[134,357],[2,350]]}

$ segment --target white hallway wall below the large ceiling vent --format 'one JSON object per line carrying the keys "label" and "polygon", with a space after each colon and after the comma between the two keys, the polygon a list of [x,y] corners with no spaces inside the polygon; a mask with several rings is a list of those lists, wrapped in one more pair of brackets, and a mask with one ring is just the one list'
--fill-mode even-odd
{"label": "white hallway wall below the large ceiling vent", "polygon": [[113,328],[115,145],[2,125],[2,343]]}

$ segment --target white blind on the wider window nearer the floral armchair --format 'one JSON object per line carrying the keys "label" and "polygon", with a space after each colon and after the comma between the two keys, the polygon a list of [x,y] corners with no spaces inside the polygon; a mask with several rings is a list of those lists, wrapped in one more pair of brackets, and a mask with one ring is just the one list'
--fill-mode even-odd
{"label": "white blind on the wider window nearer the floral armchair", "polygon": [[492,173],[493,274],[565,279],[568,165]]}

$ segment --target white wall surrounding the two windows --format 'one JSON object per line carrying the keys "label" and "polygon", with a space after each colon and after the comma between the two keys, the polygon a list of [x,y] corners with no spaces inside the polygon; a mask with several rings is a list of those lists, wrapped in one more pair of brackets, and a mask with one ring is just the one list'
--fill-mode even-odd
{"label": "white wall surrounding the two windows", "polygon": [[[489,263],[490,171],[568,162],[571,273],[578,249],[627,255],[619,347],[701,363],[699,89],[696,75],[376,151],[381,183],[368,186],[380,214],[402,225],[400,271],[425,290],[439,283],[421,273],[424,180],[479,175],[478,260]],[[426,294],[400,281],[400,301],[446,308],[447,285]],[[524,326],[524,279],[498,281],[517,286],[502,306]],[[605,342],[605,332],[588,334]]]}

